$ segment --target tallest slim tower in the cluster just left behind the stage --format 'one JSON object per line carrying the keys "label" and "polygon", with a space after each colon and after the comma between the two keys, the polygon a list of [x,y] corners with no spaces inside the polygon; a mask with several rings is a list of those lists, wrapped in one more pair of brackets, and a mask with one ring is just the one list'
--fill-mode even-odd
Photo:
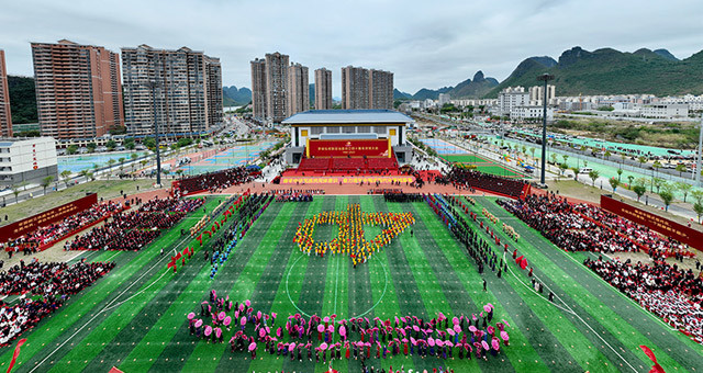
{"label": "tallest slim tower in the cluster just left behind the stage", "polygon": [[275,123],[283,121],[288,113],[288,55],[266,54],[266,116]]}

